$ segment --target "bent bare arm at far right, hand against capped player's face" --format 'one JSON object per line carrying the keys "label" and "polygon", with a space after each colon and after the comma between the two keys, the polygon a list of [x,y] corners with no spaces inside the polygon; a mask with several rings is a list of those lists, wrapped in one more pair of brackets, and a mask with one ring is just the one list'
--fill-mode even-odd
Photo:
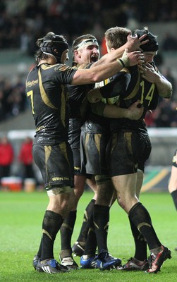
{"label": "bent bare arm at far right, hand against capped player's face", "polygon": [[171,98],[173,87],[169,80],[164,78],[164,76],[156,71],[154,67],[149,63],[146,63],[146,65],[143,66],[139,66],[139,68],[142,78],[149,82],[155,83],[159,96],[168,99]]}

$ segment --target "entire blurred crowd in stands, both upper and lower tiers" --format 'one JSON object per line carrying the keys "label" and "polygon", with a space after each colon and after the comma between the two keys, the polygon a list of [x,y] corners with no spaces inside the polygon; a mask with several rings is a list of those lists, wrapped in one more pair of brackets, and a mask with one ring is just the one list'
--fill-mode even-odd
{"label": "entire blurred crowd in stands, both upper and lower tiers", "polygon": [[[14,51],[14,59],[18,50],[18,56],[24,61],[28,57],[32,64],[37,38],[52,30],[65,35],[70,45],[75,37],[92,33],[104,54],[104,31],[109,27],[118,25],[134,30],[142,28],[144,23],[169,22],[177,23],[176,0],[0,0],[0,52],[11,51],[13,56]],[[159,68],[164,63],[163,53],[168,51],[177,51],[177,35],[173,30],[167,30],[161,38],[155,59]],[[24,82],[29,69],[23,64],[21,67],[15,78],[13,73],[0,73],[0,123],[28,109]],[[168,66],[161,72],[173,84],[173,99],[161,101],[158,111],[147,116],[149,127],[177,124],[176,78]]]}

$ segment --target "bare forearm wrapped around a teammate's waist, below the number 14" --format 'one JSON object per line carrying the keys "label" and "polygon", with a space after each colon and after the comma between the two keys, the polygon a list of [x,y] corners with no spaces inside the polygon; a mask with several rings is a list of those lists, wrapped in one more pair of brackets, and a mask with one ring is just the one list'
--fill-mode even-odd
{"label": "bare forearm wrapped around a teammate's waist, below the number 14", "polygon": [[128,109],[120,108],[116,105],[104,104],[100,101],[91,105],[94,114],[104,116],[105,118],[129,118],[138,120],[143,113],[143,107],[138,107],[140,102],[135,102]]}

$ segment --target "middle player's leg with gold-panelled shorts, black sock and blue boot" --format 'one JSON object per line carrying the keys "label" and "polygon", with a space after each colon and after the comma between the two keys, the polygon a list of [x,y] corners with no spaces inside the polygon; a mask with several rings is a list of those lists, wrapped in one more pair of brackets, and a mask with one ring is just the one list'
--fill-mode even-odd
{"label": "middle player's leg with gold-panelled shorts, black sock and blue boot", "polygon": [[[87,142],[85,142],[85,152],[87,152],[87,158],[85,158],[87,173],[95,175],[97,183],[97,200],[94,204],[93,212],[93,226],[90,226],[90,232],[88,234],[87,243],[85,245],[85,252],[80,259],[80,264],[85,267],[86,260],[90,262],[90,257],[93,256],[95,250],[92,248],[90,236],[93,237],[94,233],[97,238],[98,256],[97,256],[97,268],[110,269],[111,266],[116,266],[121,263],[120,259],[114,258],[109,255],[107,247],[107,231],[109,225],[109,207],[113,197],[113,186],[111,180],[107,176],[106,166],[106,145],[109,135],[104,133],[87,133]],[[92,158],[92,155],[94,158]],[[93,229],[94,228],[94,229]],[[93,239],[92,239],[93,240]],[[99,263],[100,262],[100,265]],[[93,262],[90,262],[93,264]],[[91,268],[92,265],[90,264]],[[88,268],[88,266],[87,266]]]}

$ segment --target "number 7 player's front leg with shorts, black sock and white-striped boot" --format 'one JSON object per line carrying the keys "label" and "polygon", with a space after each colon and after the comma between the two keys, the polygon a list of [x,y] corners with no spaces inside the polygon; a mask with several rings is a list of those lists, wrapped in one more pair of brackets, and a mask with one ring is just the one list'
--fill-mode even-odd
{"label": "number 7 player's front leg with shorts, black sock and white-striped boot", "polygon": [[[49,196],[49,204],[42,222],[42,240],[37,264],[33,266],[39,272],[56,273],[66,271],[54,259],[54,241],[61,228],[63,219],[73,207],[73,158],[67,142],[55,146],[33,146],[35,163],[39,167]],[[67,157],[66,157],[67,156]],[[68,163],[68,159],[70,163]],[[62,166],[61,166],[62,164]],[[71,164],[71,166],[70,166]],[[61,175],[63,178],[57,178]]]}

